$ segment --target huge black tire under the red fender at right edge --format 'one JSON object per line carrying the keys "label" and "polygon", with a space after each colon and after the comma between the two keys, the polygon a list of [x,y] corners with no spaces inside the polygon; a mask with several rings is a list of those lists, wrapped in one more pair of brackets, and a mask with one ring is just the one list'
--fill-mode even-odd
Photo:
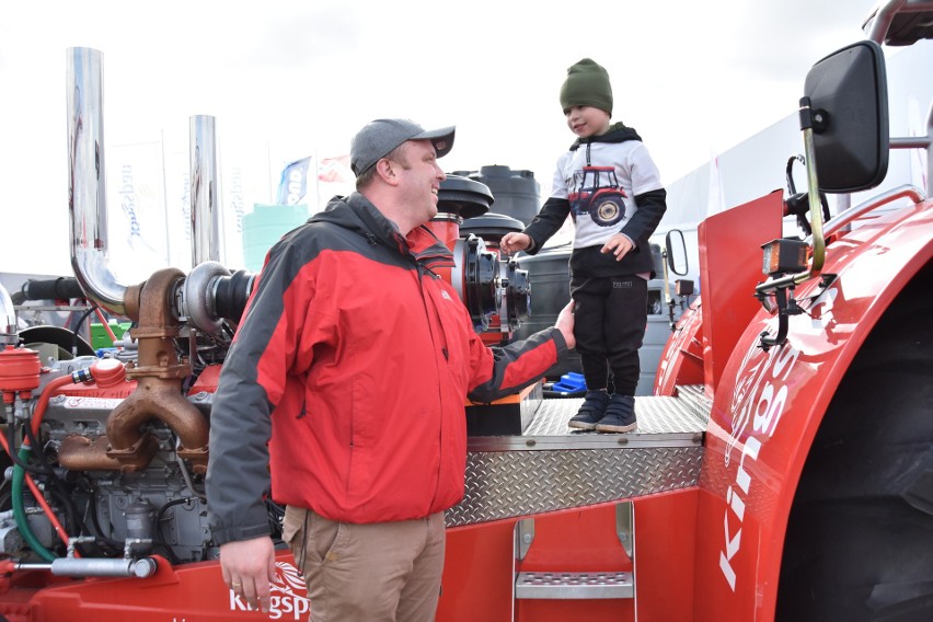
{"label": "huge black tire under the red fender at right edge", "polygon": [[933,620],[933,268],[872,332],[791,509],[776,620]]}

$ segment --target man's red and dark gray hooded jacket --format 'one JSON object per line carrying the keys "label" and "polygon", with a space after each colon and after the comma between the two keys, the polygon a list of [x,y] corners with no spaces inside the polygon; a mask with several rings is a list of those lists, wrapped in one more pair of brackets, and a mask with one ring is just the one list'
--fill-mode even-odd
{"label": "man's red and dark gray hooded jacket", "polygon": [[422,518],[463,496],[464,401],[542,378],[566,342],[546,329],[489,348],[433,269],[450,251],[403,238],[361,195],[268,254],[211,408],[215,542],[269,532],[263,495],[332,520]]}

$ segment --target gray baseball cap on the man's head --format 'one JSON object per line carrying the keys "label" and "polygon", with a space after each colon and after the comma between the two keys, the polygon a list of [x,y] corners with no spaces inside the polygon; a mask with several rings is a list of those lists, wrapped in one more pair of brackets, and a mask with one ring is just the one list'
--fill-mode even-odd
{"label": "gray baseball cap on the man's head", "polygon": [[437,157],[442,158],[453,147],[453,129],[450,126],[428,131],[405,118],[376,119],[353,137],[350,169],[360,176],[406,140],[430,140]]}

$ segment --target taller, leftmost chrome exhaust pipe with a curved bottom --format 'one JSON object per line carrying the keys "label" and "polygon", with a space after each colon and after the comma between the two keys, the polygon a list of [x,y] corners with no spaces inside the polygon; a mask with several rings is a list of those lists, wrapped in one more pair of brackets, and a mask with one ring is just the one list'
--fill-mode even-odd
{"label": "taller, leftmost chrome exhaust pipe with a curved bottom", "polygon": [[126,315],[126,286],[107,254],[103,61],[100,50],[72,47],[67,56],[68,212],[71,267],[88,300]]}

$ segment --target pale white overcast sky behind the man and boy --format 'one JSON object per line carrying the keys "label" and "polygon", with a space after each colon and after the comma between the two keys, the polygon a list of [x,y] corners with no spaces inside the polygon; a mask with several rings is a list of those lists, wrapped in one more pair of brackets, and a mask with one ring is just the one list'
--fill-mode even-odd
{"label": "pale white overcast sky behind the man and boy", "polygon": [[69,47],[103,53],[107,145],[186,141],[189,117],[211,115],[219,141],[267,145],[275,170],[346,153],[367,122],[403,116],[457,126],[446,171],[505,164],[548,184],[573,139],[557,91],[590,57],[609,70],[614,119],[670,183],[793,113],[808,68],[863,38],[874,4],[3,2],[0,272],[67,269]]}

